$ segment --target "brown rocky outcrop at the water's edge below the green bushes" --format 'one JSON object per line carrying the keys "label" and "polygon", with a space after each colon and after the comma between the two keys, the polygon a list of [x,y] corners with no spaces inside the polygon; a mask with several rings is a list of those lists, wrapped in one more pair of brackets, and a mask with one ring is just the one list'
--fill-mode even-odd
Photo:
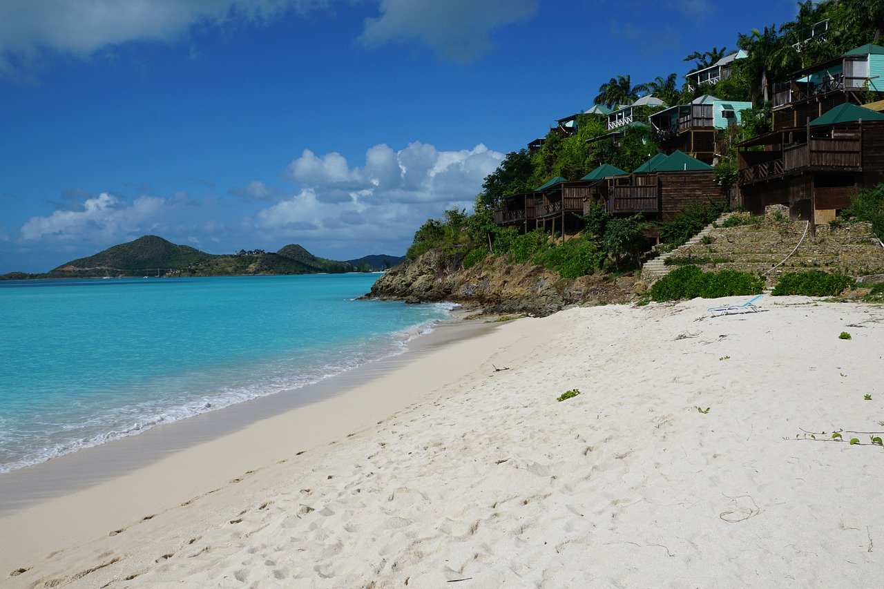
{"label": "brown rocky outcrop at the water's edge below the green bushes", "polygon": [[461,258],[431,250],[386,272],[366,297],[405,302],[452,301],[491,312],[541,317],[570,304],[623,302],[632,298],[632,277],[563,279],[537,264],[509,264],[489,256],[464,270]]}

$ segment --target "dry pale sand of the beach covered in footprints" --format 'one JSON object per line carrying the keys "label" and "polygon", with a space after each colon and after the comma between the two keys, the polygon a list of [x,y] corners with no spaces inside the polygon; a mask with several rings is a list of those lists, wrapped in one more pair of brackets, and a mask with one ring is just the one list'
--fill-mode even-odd
{"label": "dry pale sand of the beach covered in footprints", "polygon": [[884,432],[884,308],[717,302],[522,318],[18,509],[0,584],[879,585],[884,448],[846,431]]}

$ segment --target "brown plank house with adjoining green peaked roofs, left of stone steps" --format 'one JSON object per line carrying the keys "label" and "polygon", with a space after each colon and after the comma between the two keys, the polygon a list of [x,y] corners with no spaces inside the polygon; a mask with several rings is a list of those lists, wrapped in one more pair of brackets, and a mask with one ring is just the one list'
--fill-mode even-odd
{"label": "brown plank house with adjoining green peaked roofs, left of stone steps", "polygon": [[657,154],[631,174],[614,176],[608,210],[669,221],[690,204],[725,198],[711,165],[676,150],[668,156]]}

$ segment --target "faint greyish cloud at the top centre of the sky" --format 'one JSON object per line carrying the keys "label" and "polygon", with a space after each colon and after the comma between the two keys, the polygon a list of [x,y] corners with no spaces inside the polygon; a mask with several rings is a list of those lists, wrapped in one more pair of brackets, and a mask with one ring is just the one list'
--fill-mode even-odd
{"label": "faint greyish cloud at the top centre of the sky", "polygon": [[537,0],[382,0],[365,21],[367,45],[419,41],[453,61],[470,63],[492,48],[491,32],[537,10]]}

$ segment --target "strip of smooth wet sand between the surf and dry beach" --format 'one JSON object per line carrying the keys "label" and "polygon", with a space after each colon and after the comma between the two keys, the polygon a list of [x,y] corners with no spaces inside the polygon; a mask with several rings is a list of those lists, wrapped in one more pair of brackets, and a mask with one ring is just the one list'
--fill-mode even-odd
{"label": "strip of smooth wet sand between the surf and dry beach", "polygon": [[420,357],[428,349],[485,331],[482,319],[454,308],[447,319],[431,325],[403,344],[403,351],[292,389],[206,411],[101,444],[53,456],[40,463],[0,473],[0,516],[37,501],[73,493],[156,463],[165,455],[214,440],[291,409],[321,402],[377,379]]}

